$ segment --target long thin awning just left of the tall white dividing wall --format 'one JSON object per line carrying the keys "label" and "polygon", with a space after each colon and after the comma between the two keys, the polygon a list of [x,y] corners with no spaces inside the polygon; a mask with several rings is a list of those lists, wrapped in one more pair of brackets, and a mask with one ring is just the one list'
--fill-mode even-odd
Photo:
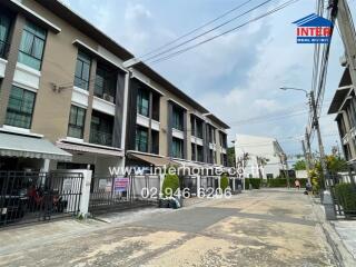
{"label": "long thin awning just left of the tall white dividing wall", "polygon": [[89,154],[97,154],[97,155],[105,155],[105,156],[113,156],[113,157],[123,157],[123,152],[119,148],[111,148],[111,147],[105,147],[105,146],[97,146],[93,144],[78,144],[78,142],[71,142],[67,140],[60,140],[56,142],[56,146],[70,150],[70,151],[78,151],[78,152],[89,152]]}

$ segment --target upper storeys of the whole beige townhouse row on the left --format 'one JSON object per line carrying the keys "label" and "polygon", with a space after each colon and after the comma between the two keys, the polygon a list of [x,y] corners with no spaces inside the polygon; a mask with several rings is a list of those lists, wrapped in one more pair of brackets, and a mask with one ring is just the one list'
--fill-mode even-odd
{"label": "upper storeys of the whole beige townhouse row on the left", "polygon": [[0,170],[226,165],[228,126],[134,57],[59,1],[1,1]]}

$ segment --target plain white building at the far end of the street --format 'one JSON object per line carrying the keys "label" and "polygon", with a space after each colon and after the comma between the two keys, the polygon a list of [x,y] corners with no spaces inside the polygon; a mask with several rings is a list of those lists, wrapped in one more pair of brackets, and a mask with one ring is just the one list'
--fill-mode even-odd
{"label": "plain white building at the far end of the street", "polygon": [[247,156],[245,177],[276,178],[285,168],[281,164],[284,151],[275,138],[236,135],[236,162]]}

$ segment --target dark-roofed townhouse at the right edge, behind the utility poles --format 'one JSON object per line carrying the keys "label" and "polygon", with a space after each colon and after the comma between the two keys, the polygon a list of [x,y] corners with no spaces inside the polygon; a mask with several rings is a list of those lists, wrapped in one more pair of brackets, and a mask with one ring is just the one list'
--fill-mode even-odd
{"label": "dark-roofed townhouse at the right edge, behind the utility poles", "polygon": [[345,68],[328,113],[336,115],[344,156],[353,167],[356,162],[356,96],[348,68]]}

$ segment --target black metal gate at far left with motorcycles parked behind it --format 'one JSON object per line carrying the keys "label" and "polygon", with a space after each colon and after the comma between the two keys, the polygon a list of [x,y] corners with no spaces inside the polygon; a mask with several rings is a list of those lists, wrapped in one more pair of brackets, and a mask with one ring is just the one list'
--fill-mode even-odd
{"label": "black metal gate at far left with motorcycles parked behind it", "polygon": [[82,174],[0,171],[0,227],[79,212]]}

